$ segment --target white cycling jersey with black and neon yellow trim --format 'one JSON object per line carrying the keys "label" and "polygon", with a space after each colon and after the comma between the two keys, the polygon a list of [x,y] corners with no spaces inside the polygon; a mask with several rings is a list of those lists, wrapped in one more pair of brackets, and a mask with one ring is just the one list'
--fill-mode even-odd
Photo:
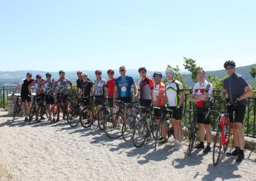
{"label": "white cycling jersey with black and neon yellow trim", "polygon": [[168,105],[170,107],[178,106],[180,99],[180,92],[184,92],[182,83],[178,80],[173,80],[172,83],[167,82],[165,84],[165,94],[168,99]]}

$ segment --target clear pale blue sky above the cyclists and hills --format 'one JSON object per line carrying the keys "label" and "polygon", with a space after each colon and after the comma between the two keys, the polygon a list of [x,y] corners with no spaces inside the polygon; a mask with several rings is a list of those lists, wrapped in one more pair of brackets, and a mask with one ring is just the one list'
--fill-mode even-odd
{"label": "clear pale blue sky above the cyclists and hills", "polygon": [[[256,61],[256,1],[0,1],[1,71]],[[4,66],[3,66],[4,65]]]}

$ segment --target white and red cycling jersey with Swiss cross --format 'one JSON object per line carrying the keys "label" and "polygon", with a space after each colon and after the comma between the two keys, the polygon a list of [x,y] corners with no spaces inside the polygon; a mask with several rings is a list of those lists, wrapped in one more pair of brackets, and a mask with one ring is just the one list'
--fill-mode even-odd
{"label": "white and red cycling jersey with Swiss cross", "polygon": [[[199,82],[196,83],[195,85],[193,85],[192,94],[202,96],[204,94],[204,92],[208,92],[208,97],[207,98],[211,98],[211,96],[212,96],[212,84],[210,82],[207,82],[206,80],[204,80],[204,83],[202,83],[202,85],[200,85]],[[204,101],[196,102],[196,106],[199,107],[199,108],[204,108]]]}

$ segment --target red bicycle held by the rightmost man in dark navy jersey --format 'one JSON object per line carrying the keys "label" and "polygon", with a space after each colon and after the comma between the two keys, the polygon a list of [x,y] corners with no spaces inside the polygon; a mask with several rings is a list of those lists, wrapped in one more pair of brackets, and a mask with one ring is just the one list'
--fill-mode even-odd
{"label": "red bicycle held by the rightmost man in dark navy jersey", "polygon": [[[218,112],[218,111],[211,111],[211,112],[219,113],[218,130],[216,132],[216,137],[214,140],[213,152],[212,152],[212,162],[214,166],[216,166],[220,161],[221,155],[223,156],[227,151],[228,143],[229,143],[230,137],[232,136],[232,127],[230,127],[230,121],[228,119],[228,115],[230,115],[230,113]],[[233,112],[232,115],[234,120],[235,112]]]}

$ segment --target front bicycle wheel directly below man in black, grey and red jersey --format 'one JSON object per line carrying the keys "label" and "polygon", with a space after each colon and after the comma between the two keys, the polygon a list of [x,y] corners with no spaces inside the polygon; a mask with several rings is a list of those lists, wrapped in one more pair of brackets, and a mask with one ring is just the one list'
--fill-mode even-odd
{"label": "front bicycle wheel directly below man in black, grey and red jersey", "polygon": [[149,131],[147,128],[147,121],[145,119],[138,120],[132,133],[133,145],[140,148],[146,141]]}

